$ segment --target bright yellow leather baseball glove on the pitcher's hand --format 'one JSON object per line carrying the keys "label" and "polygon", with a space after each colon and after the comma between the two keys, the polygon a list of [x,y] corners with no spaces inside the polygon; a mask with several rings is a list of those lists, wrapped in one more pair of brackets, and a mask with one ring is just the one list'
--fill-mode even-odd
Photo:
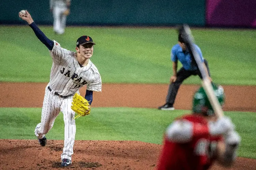
{"label": "bright yellow leather baseball glove on the pitcher's hand", "polygon": [[85,98],[83,98],[81,95],[77,93],[75,93],[71,104],[71,109],[75,113],[77,113],[77,116],[75,118],[89,115],[91,112],[91,106],[89,104],[89,101],[87,101]]}

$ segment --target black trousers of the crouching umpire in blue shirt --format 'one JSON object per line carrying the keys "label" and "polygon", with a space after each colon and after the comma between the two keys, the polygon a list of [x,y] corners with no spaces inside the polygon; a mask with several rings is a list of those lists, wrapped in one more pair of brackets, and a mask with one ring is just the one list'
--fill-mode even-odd
{"label": "black trousers of the crouching umpire in blue shirt", "polygon": [[[209,76],[211,76],[210,70],[209,70],[209,67],[208,67],[208,62],[206,60],[204,60],[204,64],[205,64],[205,66],[207,68]],[[194,71],[188,71],[188,70],[185,70],[182,67],[177,72],[177,79],[176,79],[176,81],[169,85],[169,90],[168,90],[168,94],[167,94],[167,97],[166,97],[166,103],[174,104],[177,92],[178,92],[182,82],[185,79],[187,79],[188,77],[190,77],[191,75],[199,75],[200,79],[202,79],[202,75],[201,75],[199,69],[194,70]]]}

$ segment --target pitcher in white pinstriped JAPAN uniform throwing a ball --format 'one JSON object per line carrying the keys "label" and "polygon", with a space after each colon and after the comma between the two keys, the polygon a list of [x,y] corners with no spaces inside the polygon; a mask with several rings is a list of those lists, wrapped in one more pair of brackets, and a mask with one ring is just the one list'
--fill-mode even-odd
{"label": "pitcher in white pinstriped JAPAN uniform throwing a ball", "polygon": [[[62,112],[65,139],[61,166],[69,166],[75,141],[75,112],[80,116],[89,114],[93,91],[101,91],[99,71],[90,61],[95,43],[91,37],[81,36],[76,41],[76,52],[66,50],[55,40],[48,39],[27,11],[26,14],[19,13],[19,17],[28,22],[38,39],[49,49],[53,60],[50,82],[45,88],[41,122],[35,128],[35,135],[40,145],[45,146],[45,134],[51,130],[54,120]],[[87,86],[85,99],[79,95],[79,89],[84,85]]]}

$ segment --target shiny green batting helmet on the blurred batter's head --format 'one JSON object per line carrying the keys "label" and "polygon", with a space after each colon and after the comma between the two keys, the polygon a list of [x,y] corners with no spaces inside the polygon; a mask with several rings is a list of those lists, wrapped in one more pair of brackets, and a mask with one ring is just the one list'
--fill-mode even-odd
{"label": "shiny green batting helmet on the blurred batter's head", "polygon": [[[217,97],[217,100],[219,101],[219,104],[223,106],[225,101],[223,87],[220,85],[216,85],[214,83],[212,83],[212,87],[214,90],[214,94]],[[210,104],[210,101],[203,87],[200,87],[194,95],[192,110],[193,110],[193,113],[200,113],[208,116],[211,116],[214,114],[212,105]]]}

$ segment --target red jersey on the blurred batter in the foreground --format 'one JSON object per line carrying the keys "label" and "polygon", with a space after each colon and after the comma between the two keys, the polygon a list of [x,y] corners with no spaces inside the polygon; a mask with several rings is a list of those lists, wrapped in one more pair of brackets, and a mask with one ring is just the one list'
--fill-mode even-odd
{"label": "red jersey on the blurred batter in the foreground", "polygon": [[207,131],[199,135],[193,134],[191,141],[186,143],[175,143],[165,136],[157,170],[208,169],[213,162],[209,155],[209,145],[211,142],[221,140],[221,138],[210,136],[208,121],[201,115],[185,115],[180,120],[187,120],[193,123],[193,126],[197,124],[197,126],[207,127]]}

